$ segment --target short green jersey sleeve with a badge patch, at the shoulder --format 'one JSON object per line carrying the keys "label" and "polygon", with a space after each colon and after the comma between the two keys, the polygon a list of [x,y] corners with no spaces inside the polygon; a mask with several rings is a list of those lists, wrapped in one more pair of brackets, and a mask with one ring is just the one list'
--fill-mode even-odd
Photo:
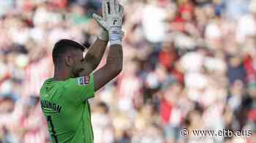
{"label": "short green jersey sleeve with a badge patch, at the shoulder", "polygon": [[70,78],[64,82],[64,94],[75,102],[94,97],[94,76]]}

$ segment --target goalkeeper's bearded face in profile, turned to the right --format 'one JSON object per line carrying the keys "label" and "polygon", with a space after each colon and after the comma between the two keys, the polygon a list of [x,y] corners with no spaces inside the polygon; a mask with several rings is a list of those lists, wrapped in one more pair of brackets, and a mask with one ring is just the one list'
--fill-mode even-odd
{"label": "goalkeeper's bearded face in profile, turned to the right", "polygon": [[70,65],[72,77],[79,77],[80,71],[83,71],[83,51],[72,51],[72,63]]}

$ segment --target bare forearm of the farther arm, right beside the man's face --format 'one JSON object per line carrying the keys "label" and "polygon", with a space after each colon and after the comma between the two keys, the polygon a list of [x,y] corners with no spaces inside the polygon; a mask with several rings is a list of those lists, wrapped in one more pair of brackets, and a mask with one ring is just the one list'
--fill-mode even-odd
{"label": "bare forearm of the farther arm, right beside the man's face", "polygon": [[84,70],[80,73],[81,75],[89,75],[92,71],[94,71],[94,69],[97,68],[99,62],[102,59],[102,56],[105,53],[107,45],[108,41],[103,41],[98,37],[94,44],[89,47],[83,63]]}

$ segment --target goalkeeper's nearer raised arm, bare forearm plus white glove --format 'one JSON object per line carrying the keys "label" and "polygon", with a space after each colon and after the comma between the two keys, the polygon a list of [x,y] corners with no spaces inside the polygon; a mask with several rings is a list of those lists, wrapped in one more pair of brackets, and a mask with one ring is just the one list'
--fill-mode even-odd
{"label": "goalkeeper's nearer raised arm, bare forearm plus white glove", "polygon": [[118,3],[118,0],[103,0],[102,4],[103,18],[96,14],[93,17],[102,28],[108,31],[110,51],[105,66],[94,73],[94,91],[99,90],[115,78],[123,68],[123,50],[121,46],[123,32],[121,27],[124,7]]}

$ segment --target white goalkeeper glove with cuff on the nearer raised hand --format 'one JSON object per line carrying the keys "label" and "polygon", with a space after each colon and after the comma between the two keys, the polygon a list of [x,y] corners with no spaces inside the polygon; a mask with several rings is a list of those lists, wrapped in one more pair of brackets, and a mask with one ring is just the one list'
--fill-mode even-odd
{"label": "white goalkeeper glove with cuff on the nearer raised hand", "polygon": [[[122,18],[124,16],[124,7],[118,3],[118,0],[103,0],[102,2],[102,17],[94,14],[93,17],[97,23],[108,31],[110,45],[121,45],[123,38]],[[102,34],[100,34],[102,36]],[[103,39],[103,38],[102,38]]]}

